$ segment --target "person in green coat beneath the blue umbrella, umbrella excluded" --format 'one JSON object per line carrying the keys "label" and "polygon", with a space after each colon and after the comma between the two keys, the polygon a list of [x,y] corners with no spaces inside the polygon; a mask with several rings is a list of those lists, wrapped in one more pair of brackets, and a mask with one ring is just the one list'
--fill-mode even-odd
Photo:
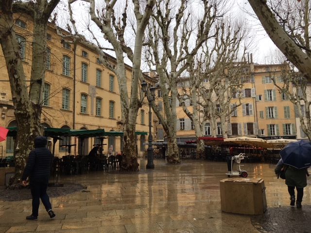
{"label": "person in green coat beneath the blue umbrella, umbrella excluded", "polygon": [[279,176],[281,170],[285,173],[285,183],[287,185],[288,193],[290,194],[290,205],[295,205],[295,187],[297,190],[297,208],[301,208],[303,198],[303,189],[307,186],[307,176],[309,176],[308,168],[297,169],[294,166],[284,165],[280,159],[276,165],[275,173]]}

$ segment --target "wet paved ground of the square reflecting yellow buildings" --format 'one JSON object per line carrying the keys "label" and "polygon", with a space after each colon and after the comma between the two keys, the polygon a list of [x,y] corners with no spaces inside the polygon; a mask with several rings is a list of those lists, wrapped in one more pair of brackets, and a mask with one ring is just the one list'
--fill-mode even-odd
{"label": "wet paved ground of the square reflecting yellow buildings", "polygon": [[[289,207],[287,187],[276,179],[275,165],[243,165],[249,178],[264,180],[268,205],[264,215],[221,211],[219,181],[227,178],[226,163],[189,160],[167,165],[155,160],[155,169],[146,170],[146,161],[140,160],[138,173],[99,171],[61,177],[60,182],[86,185],[88,192],[52,198],[53,220],[41,204],[39,220],[27,222],[31,200],[0,201],[0,233],[284,233],[296,216],[300,224],[291,232],[308,232],[310,178],[299,212]],[[275,220],[278,213],[283,220]]]}

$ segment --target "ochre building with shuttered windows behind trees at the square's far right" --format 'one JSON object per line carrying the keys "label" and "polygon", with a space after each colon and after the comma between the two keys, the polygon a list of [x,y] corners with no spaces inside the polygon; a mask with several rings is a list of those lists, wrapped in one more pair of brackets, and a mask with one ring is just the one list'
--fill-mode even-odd
{"label": "ochre building with shuttered windows behind trees at the square's far right", "polygon": [[[249,69],[251,75],[245,78],[242,87],[242,105],[238,106],[236,111],[226,119],[228,121],[228,137],[296,138],[294,104],[287,100],[284,94],[279,93],[271,79],[271,77],[275,77],[278,84],[283,82],[280,78],[280,65],[250,63]],[[159,94],[157,97],[157,101],[161,102],[161,95]],[[233,97],[231,108],[238,102],[237,100]],[[177,141],[196,140],[191,121],[182,107],[177,107],[176,112]],[[223,136],[220,127],[219,119],[216,130],[219,137]],[[156,128],[157,140],[164,140],[165,135],[161,125],[157,125]],[[207,123],[205,125],[205,136],[211,136],[211,132],[210,124]]]}

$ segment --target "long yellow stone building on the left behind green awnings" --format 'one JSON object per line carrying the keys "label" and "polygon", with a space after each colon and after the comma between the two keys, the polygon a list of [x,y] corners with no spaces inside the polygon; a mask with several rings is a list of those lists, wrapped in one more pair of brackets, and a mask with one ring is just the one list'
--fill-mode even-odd
{"label": "long yellow stone building on the left behind green awnings", "polygon": [[[16,32],[21,43],[21,55],[26,77],[30,78],[32,64],[32,21],[19,17],[16,21]],[[64,32],[66,33],[66,32]],[[62,42],[53,25],[48,26],[47,63],[44,83],[41,124],[45,127],[69,129],[104,129],[107,131],[122,131],[121,102],[119,84],[116,75],[104,67],[99,60],[99,54],[82,43],[76,48],[73,44]],[[111,63],[115,59],[110,56]],[[14,107],[7,69],[2,50],[0,50],[0,126],[16,126]],[[132,67],[126,66],[128,87],[131,86]],[[148,79],[148,77],[147,77]],[[147,80],[147,82],[152,80]],[[130,90],[130,89],[129,89]],[[138,111],[136,130],[149,132],[148,106]],[[27,123],[27,122],[25,122]],[[84,139],[64,137],[56,144],[55,155],[68,154],[68,147],[62,145],[76,144],[71,147],[71,154],[88,154],[96,138]],[[138,156],[145,150],[143,143],[146,135],[137,135]],[[113,145],[114,153],[121,152],[120,136],[109,136],[104,139],[104,153]],[[13,138],[0,143],[0,156],[13,154]]]}

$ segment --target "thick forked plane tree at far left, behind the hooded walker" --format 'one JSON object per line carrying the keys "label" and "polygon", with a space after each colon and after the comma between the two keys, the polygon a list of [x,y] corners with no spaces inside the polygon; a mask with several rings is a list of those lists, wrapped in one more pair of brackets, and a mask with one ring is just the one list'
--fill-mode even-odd
{"label": "thick forked plane tree at far left, behind the hooded walker", "polygon": [[[17,121],[17,141],[15,155],[15,176],[11,187],[19,183],[26,159],[34,145],[35,136],[40,134],[40,116],[43,83],[46,69],[47,23],[59,0],[13,1],[0,0],[0,44],[9,75],[14,114]],[[34,30],[29,38],[18,39],[14,14],[32,17]],[[20,54],[21,43],[32,46],[32,69],[29,92]]]}

